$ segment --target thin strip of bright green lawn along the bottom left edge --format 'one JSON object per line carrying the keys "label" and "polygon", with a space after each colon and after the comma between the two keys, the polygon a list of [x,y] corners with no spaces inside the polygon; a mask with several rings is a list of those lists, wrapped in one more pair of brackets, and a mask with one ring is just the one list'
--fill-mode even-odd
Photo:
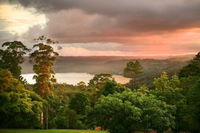
{"label": "thin strip of bright green lawn along the bottom left edge", "polygon": [[107,132],[94,131],[94,130],[69,130],[69,129],[50,129],[50,130],[0,129],[0,133],[107,133]]}

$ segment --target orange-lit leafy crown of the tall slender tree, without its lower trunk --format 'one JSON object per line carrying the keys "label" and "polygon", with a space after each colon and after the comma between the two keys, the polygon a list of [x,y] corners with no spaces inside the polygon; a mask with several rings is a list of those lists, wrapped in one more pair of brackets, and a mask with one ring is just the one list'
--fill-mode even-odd
{"label": "orange-lit leafy crown of the tall slender tree, without its lower trunk", "polygon": [[30,59],[34,63],[33,71],[36,73],[35,88],[41,97],[45,97],[51,90],[52,82],[55,82],[53,65],[58,53],[43,43],[35,44],[33,48],[36,50],[30,54]]}

